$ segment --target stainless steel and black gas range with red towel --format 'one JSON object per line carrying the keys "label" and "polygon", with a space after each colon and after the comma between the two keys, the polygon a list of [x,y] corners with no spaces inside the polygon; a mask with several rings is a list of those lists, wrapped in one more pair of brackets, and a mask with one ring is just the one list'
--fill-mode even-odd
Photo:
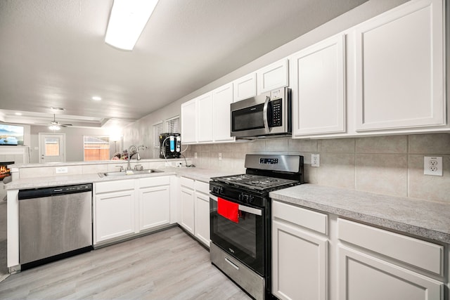
{"label": "stainless steel and black gas range with red towel", "polygon": [[303,183],[303,157],[246,155],[245,168],[211,178],[211,262],[253,298],[270,299],[269,193]]}

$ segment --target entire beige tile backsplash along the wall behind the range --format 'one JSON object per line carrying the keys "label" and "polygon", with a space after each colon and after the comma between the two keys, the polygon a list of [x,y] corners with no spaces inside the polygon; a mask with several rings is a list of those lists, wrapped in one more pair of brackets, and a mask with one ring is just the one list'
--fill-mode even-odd
{"label": "entire beige tile backsplash along the wall behind the range", "polygon": [[[197,167],[236,174],[245,172],[245,154],[300,153],[304,156],[307,183],[450,202],[450,134],[447,133],[324,140],[276,138],[191,145],[186,157],[193,158],[194,152],[198,154],[198,159],[193,159]],[[318,152],[321,166],[311,167],[311,153]],[[424,155],[444,157],[444,176],[423,175]]]}

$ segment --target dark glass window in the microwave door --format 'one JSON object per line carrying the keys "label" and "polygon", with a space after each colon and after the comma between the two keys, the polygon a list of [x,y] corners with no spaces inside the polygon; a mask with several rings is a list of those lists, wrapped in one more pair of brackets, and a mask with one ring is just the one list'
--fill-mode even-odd
{"label": "dark glass window in the microwave door", "polygon": [[233,131],[264,128],[264,104],[243,108],[231,112]]}

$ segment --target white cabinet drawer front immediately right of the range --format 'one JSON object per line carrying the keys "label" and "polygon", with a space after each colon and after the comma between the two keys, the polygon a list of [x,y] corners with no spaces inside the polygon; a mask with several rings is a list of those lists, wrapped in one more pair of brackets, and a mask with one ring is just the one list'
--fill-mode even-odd
{"label": "white cabinet drawer front immediately right of the range", "polygon": [[328,235],[328,215],[326,214],[278,201],[273,202],[272,213],[274,219],[282,219]]}

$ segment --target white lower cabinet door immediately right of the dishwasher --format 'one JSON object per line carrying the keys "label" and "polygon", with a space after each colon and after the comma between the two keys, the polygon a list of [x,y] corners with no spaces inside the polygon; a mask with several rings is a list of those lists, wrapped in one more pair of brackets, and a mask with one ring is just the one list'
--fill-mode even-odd
{"label": "white lower cabinet door immediately right of the dishwasher", "polygon": [[98,194],[96,242],[134,233],[134,190]]}

